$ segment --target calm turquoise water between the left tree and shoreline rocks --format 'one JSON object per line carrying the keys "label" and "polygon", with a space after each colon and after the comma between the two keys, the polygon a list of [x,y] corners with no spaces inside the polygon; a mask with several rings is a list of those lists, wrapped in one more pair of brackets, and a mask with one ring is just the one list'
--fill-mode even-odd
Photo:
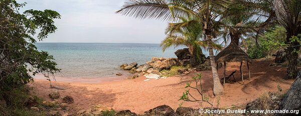
{"label": "calm turquoise water between the left tree and shoreline rocks", "polygon": [[53,55],[64,77],[110,77],[121,72],[122,63],[144,64],[152,57],[176,57],[170,48],[144,43],[36,43],[39,50]]}

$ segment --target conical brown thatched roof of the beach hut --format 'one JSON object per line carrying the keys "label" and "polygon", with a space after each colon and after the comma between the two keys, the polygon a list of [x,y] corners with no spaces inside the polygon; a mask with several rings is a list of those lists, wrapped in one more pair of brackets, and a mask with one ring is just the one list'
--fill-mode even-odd
{"label": "conical brown thatched roof of the beach hut", "polygon": [[228,47],[223,49],[215,56],[216,62],[252,62],[252,59],[239,46],[231,42]]}

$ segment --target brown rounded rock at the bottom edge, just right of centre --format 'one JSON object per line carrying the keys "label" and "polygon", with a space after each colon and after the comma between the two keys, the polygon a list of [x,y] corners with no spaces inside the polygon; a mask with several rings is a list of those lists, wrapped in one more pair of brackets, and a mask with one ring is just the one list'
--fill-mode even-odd
{"label": "brown rounded rock at the bottom edge, just right of centre", "polygon": [[[175,112],[170,106],[167,105],[162,105],[159,107],[156,107],[154,109],[150,109],[149,111],[144,112],[145,114],[158,114],[158,116],[160,116],[159,114],[163,114],[163,116],[174,116],[175,114],[173,113]],[[165,115],[167,114],[167,115]],[[179,115],[178,115],[179,116]]]}

